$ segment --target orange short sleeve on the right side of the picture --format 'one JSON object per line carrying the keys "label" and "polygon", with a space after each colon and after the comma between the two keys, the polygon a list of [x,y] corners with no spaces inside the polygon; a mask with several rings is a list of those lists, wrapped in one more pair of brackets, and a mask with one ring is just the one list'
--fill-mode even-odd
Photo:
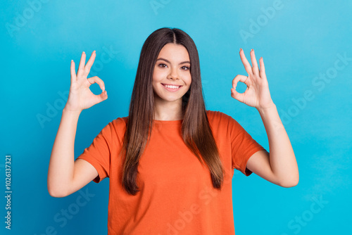
{"label": "orange short sleeve on the right side of the picture", "polygon": [[235,168],[245,174],[247,177],[253,172],[246,165],[253,155],[261,150],[263,146],[258,144],[239,123],[229,116],[231,151],[232,151],[232,168]]}

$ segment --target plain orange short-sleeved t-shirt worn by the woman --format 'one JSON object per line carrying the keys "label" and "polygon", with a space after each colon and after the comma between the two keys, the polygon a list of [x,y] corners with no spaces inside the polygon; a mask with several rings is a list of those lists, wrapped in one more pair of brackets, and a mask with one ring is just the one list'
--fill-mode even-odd
{"label": "plain orange short-sleeved t-shirt worn by the woman", "polygon": [[206,111],[225,168],[221,191],[213,188],[208,168],[201,165],[181,136],[182,120],[154,120],[151,140],[139,160],[136,196],[128,194],[122,177],[122,149],[127,117],[108,123],[78,158],[109,177],[108,234],[234,234],[232,176],[246,176],[246,163],[260,150],[239,123],[219,111]]}

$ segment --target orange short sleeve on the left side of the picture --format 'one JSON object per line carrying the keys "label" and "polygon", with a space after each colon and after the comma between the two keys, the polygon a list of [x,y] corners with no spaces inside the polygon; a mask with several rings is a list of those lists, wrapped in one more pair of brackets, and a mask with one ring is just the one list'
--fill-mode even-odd
{"label": "orange short sleeve on the left side of the picture", "polygon": [[83,153],[78,156],[78,158],[87,160],[88,163],[94,166],[99,174],[95,179],[93,179],[96,183],[99,183],[104,178],[109,177],[112,148],[111,130],[112,123],[110,122],[94,138],[92,144],[88,148],[85,148]]}

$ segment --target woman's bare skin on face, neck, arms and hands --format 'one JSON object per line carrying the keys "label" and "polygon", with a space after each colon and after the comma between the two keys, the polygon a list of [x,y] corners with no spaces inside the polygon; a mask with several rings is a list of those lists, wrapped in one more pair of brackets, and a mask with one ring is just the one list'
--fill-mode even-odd
{"label": "woman's bare skin on face, neck, arms and hands", "polygon": [[[240,50],[239,55],[248,76],[237,75],[232,80],[231,96],[248,106],[255,107],[263,120],[268,134],[270,153],[258,151],[254,153],[246,165],[253,173],[263,179],[283,187],[296,186],[299,180],[298,166],[287,132],[277,113],[275,103],[270,97],[268,80],[265,75],[263,58],[260,58],[260,69],[252,49],[251,63]],[[98,176],[96,169],[87,161],[74,160],[75,133],[82,110],[108,99],[103,80],[89,77],[90,69],[96,57],[93,51],[85,64],[86,54],[83,52],[80,65],[75,72],[75,63],[71,61],[71,84],[68,101],[63,108],[61,122],[58,127],[49,162],[47,186],[51,196],[64,197],[92,182]],[[156,120],[182,119],[182,96],[191,85],[190,64],[187,49],[177,44],[166,44],[158,55],[153,72],[153,90],[155,97]],[[238,82],[244,82],[247,89],[243,94],[236,91]],[[90,91],[91,84],[97,83],[101,94]],[[163,83],[182,85],[175,92],[165,90]]]}

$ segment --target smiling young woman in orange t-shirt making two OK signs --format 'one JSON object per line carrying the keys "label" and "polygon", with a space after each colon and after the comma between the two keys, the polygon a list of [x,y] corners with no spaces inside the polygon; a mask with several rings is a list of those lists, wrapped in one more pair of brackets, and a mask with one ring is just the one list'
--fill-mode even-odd
{"label": "smiling young woman in orange t-shirt making two OK signs", "polygon": [[[298,184],[289,137],[253,49],[248,76],[232,80],[231,96],[260,113],[270,154],[229,115],[206,110],[199,56],[191,37],[161,28],[144,42],[127,117],[109,122],[74,160],[77,121],[83,109],[108,98],[103,81],[89,77],[82,53],[54,142],[48,172],[51,196],[63,197],[109,177],[108,234],[234,234],[234,169],[283,187]],[[243,94],[236,91],[244,82]],[[101,94],[89,90],[99,84]]]}

